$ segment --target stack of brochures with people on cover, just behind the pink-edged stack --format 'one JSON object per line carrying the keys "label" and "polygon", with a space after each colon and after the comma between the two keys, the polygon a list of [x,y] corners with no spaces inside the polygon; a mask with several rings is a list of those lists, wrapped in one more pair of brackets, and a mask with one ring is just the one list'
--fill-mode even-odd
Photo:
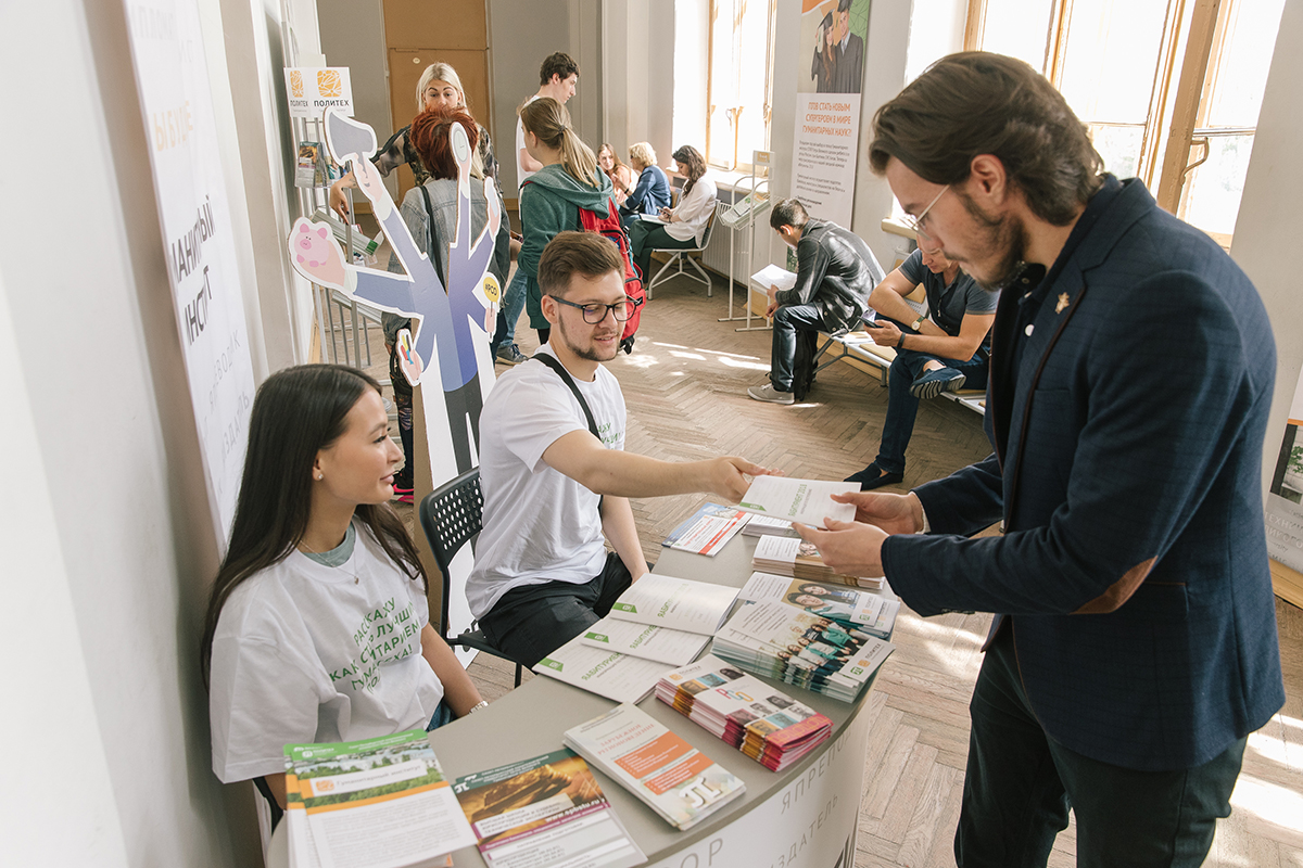
{"label": "stack of brochures with people on cover, just behind the pink-edged stack", "polygon": [[852,701],[895,645],[786,603],[737,610],[715,636],[714,653],[757,675]]}

